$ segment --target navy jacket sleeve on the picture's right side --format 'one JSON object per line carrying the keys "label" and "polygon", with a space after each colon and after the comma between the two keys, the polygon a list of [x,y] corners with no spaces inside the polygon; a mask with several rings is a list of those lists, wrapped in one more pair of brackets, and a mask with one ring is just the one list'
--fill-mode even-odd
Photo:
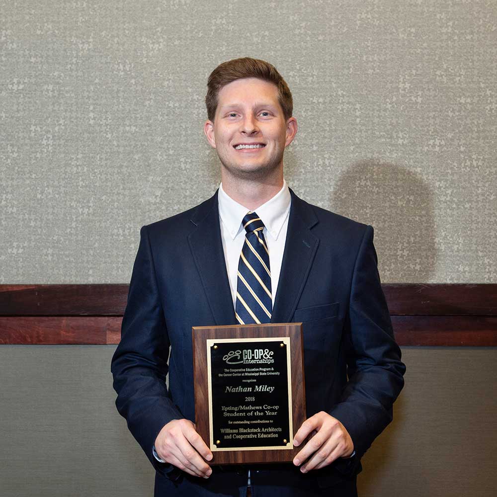
{"label": "navy jacket sleeve on the picture's right side", "polygon": [[367,226],[355,260],[346,318],[348,382],[330,412],[349,432],[357,461],[392,420],[406,371],[377,262],[373,228]]}

